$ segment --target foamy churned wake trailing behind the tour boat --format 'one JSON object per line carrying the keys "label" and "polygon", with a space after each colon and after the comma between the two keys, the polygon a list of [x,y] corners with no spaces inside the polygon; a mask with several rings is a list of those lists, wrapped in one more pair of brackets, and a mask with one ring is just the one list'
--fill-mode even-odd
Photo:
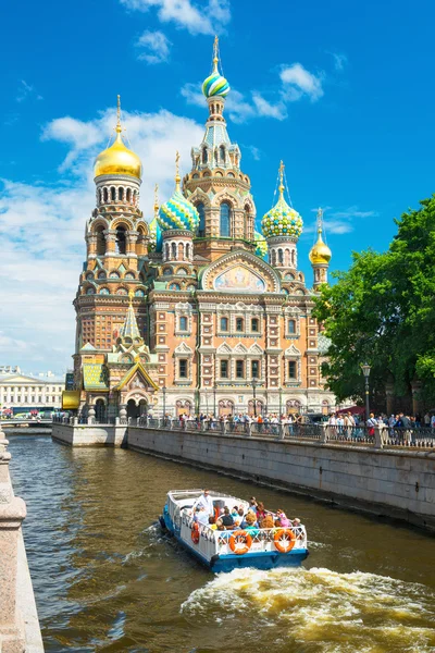
{"label": "foamy churned wake trailing behind the tour boat", "polygon": [[421,584],[361,571],[234,570],[195,590],[181,612],[189,620],[232,620],[245,644],[263,642],[275,653],[435,650],[435,630],[426,627],[435,620],[434,594]]}

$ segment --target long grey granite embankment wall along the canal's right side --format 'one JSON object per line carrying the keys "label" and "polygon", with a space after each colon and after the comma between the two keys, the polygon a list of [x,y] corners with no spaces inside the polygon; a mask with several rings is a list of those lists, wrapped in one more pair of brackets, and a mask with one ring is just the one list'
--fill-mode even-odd
{"label": "long grey granite embankment wall along the canal's right side", "polygon": [[435,532],[435,452],[128,427],[128,448],[396,517]]}

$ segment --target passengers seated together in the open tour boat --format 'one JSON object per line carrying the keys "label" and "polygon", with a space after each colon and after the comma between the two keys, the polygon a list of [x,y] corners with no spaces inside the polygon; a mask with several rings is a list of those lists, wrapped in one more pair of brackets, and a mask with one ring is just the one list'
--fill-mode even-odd
{"label": "passengers seated together in the open tour boat", "polygon": [[258,502],[254,496],[251,496],[248,507],[235,505],[233,508],[228,506],[221,508],[213,504],[209,490],[204,490],[197,498],[191,508],[191,515],[194,522],[209,526],[211,530],[217,531],[302,528],[298,517],[289,519],[284,510],[276,510],[276,513],[266,510],[264,504]]}

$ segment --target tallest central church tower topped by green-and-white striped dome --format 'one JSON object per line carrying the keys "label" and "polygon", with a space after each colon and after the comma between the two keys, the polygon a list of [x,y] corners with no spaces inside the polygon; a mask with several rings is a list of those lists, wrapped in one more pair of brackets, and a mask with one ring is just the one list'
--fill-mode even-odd
{"label": "tallest central church tower topped by green-and-white striped dome", "polygon": [[212,72],[202,93],[209,106],[206,133],[199,147],[191,149],[192,168],[183,182],[186,197],[199,213],[195,251],[213,261],[235,247],[256,249],[251,184],[240,170],[240,149],[231,141],[223,115],[229,85],[219,71],[217,37]]}

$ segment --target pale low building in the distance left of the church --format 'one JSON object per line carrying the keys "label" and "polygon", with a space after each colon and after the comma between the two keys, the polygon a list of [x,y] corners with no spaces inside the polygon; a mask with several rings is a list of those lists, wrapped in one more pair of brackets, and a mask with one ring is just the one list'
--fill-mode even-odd
{"label": "pale low building in the distance left of the church", "polygon": [[30,408],[38,410],[59,410],[62,405],[63,380],[54,374],[29,377],[17,371],[0,373],[0,406],[2,410],[27,412]]}

